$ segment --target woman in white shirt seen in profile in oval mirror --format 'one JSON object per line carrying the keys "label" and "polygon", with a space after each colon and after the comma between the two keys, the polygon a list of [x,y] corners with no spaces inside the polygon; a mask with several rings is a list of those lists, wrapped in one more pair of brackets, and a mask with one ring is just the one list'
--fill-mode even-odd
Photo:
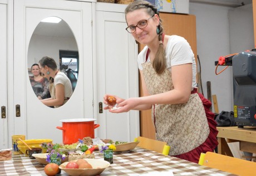
{"label": "woman in white shirt seen in profile in oval mirror", "polygon": [[[54,79],[50,85],[50,99],[41,100],[46,106],[60,107],[64,105],[73,94],[72,85],[65,73],[57,70],[57,64],[53,58],[43,57],[39,61],[41,72],[48,80]],[[51,81],[50,81],[51,82]]]}

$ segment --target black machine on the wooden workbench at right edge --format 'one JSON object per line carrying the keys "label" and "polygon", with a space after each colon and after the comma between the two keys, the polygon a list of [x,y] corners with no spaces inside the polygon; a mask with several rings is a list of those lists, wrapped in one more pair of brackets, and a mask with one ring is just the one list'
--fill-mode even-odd
{"label": "black machine on the wooden workbench at right edge", "polygon": [[256,52],[232,58],[234,119],[238,127],[256,126]]}

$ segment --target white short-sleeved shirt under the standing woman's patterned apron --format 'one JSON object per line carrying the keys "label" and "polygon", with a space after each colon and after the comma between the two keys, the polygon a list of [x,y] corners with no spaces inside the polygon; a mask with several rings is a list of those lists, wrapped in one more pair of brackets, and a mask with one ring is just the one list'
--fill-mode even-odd
{"label": "white short-sleeved shirt under the standing woman's patterned apron", "polygon": [[[141,64],[146,62],[147,49],[148,47],[145,46],[138,55],[137,61],[140,70],[143,70]],[[193,51],[186,39],[178,35],[171,35],[165,48],[165,58],[169,71],[171,71],[171,66],[192,64],[193,80],[191,90],[193,90],[196,87],[196,63]],[[150,57],[147,58],[147,62],[150,62]]]}

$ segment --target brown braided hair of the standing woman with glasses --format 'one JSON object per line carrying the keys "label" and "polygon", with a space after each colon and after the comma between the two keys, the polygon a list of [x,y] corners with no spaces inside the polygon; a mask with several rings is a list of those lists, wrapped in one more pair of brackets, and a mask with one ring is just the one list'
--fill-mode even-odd
{"label": "brown braided hair of the standing woman with glasses", "polygon": [[[157,14],[159,16],[159,12],[157,11],[157,8],[153,6],[151,3],[147,1],[134,1],[129,4],[129,6],[125,9],[125,17],[126,14],[129,12],[136,11],[138,9],[145,9],[146,13],[148,13],[150,16],[153,16]],[[155,69],[157,74],[162,74],[164,70],[166,69],[166,59],[165,59],[165,50],[163,45],[163,39],[162,34],[164,32],[164,29],[161,24],[162,20],[159,18],[159,25],[157,26],[159,32],[158,34],[158,40],[159,40],[159,47],[156,52],[155,59],[153,60],[153,68]]]}

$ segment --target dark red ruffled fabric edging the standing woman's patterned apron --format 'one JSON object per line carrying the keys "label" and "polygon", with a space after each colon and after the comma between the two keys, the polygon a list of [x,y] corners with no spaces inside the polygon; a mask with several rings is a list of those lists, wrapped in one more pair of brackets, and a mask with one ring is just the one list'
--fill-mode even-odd
{"label": "dark red ruffled fabric edging the standing woman's patterned apron", "polygon": [[198,93],[198,95],[204,105],[204,110],[210,128],[209,136],[204,143],[202,143],[200,146],[196,147],[192,151],[174,156],[176,158],[185,159],[194,163],[198,163],[201,153],[213,152],[214,148],[218,146],[218,130],[216,129],[217,123],[214,121],[214,113],[210,111],[211,102],[208,99],[205,99],[202,94]]}

